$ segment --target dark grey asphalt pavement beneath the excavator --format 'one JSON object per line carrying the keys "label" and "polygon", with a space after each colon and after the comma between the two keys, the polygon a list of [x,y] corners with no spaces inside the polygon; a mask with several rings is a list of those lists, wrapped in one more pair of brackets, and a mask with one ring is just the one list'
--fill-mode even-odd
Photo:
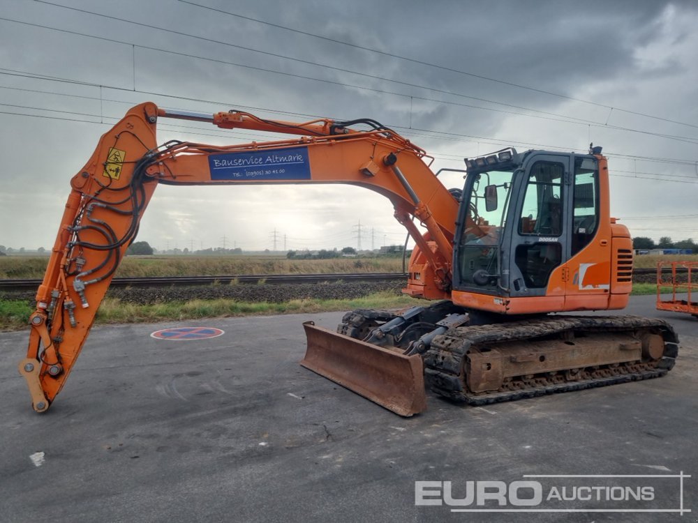
{"label": "dark grey asphalt pavement beneath the excavator", "polygon": [[340,313],[98,326],[45,414],[0,333],[0,522],[695,521],[698,320],[625,312],[674,324],[666,377],[413,418],[298,365]]}

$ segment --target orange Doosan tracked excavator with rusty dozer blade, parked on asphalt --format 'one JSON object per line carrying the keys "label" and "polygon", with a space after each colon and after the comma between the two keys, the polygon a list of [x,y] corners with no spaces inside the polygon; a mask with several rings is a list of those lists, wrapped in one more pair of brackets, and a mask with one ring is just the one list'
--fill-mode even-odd
{"label": "orange Doosan tracked excavator with rusty dozer blade, parked on asphalt", "polygon": [[[158,146],[161,118],[291,136]],[[402,416],[426,408],[425,385],[479,405],[671,370],[678,338],[664,321],[555,314],[628,303],[632,242],[611,218],[600,147],[469,158],[463,190],[447,190],[429,160],[371,119],[294,123],[133,107],[70,184],[19,367],[34,410],[47,410],[64,386],[160,183],[348,183],[387,197],[415,241],[403,292],[426,301],[349,312],[336,333],[306,322],[301,364]]]}

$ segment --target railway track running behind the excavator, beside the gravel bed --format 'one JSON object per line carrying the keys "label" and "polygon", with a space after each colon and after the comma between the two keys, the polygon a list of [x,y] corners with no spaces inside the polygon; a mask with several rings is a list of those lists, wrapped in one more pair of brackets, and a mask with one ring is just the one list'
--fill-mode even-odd
{"label": "railway track running behind the excavator, beside the gravel bed", "polygon": [[[228,275],[228,276],[167,276],[158,278],[114,278],[111,287],[192,287],[197,285],[246,285],[325,283],[325,282],[387,282],[406,280],[403,273],[365,274],[276,274],[276,275]],[[33,291],[42,280],[0,280],[0,291]]]}

